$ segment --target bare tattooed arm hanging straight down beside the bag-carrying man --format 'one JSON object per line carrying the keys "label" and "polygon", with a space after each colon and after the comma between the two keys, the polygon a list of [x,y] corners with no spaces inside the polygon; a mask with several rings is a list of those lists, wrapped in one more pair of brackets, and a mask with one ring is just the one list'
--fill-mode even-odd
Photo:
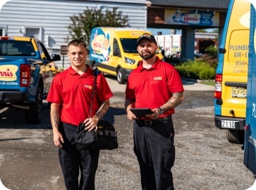
{"label": "bare tattooed arm hanging straight down beside the bag-carrying man", "polygon": [[54,144],[59,148],[62,148],[62,144],[64,143],[64,139],[59,132],[59,103],[51,103],[51,126],[52,132],[54,134]]}

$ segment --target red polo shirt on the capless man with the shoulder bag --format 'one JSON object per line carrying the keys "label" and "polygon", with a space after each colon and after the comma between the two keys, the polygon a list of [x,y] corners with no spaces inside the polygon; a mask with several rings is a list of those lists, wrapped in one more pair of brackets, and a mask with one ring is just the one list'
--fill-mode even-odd
{"label": "red polo shirt on the capless man with the shoulder bag", "polygon": [[[82,76],[70,67],[54,77],[47,101],[61,104],[60,118],[62,122],[78,125],[89,117],[95,76],[93,70],[89,66],[87,68],[87,72]],[[100,73],[97,76],[91,116],[95,115],[103,101],[112,96],[109,84]]]}

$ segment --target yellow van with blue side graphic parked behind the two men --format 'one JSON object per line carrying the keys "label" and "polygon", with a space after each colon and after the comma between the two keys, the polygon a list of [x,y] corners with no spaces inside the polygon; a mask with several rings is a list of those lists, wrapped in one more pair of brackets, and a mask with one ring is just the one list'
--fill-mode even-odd
{"label": "yellow van with blue side graphic parked behind the two men", "polygon": [[[117,77],[124,84],[130,72],[138,67],[141,60],[137,51],[137,39],[141,34],[150,33],[128,27],[95,27],[90,36],[90,66],[103,73]],[[164,59],[160,51],[160,59]]]}

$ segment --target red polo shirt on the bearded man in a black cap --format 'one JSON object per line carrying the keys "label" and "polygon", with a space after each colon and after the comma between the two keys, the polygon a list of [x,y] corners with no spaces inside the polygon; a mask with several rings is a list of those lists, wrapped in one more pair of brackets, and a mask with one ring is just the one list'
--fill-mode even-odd
{"label": "red polo shirt on the bearded man in a black cap", "polygon": [[[128,77],[126,99],[135,99],[135,108],[159,108],[174,92],[184,91],[181,77],[173,65],[161,61],[158,57],[151,68],[142,67],[133,70]],[[174,109],[161,117],[171,115]]]}

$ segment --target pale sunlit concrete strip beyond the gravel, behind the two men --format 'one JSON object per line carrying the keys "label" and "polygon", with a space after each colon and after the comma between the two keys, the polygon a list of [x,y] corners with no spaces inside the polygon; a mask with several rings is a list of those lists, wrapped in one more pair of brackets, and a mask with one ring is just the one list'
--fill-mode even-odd
{"label": "pale sunlit concrete strip beyond the gravel, behind the two men", "polygon": [[[115,77],[106,77],[106,81],[109,83],[109,87],[113,92],[124,92],[126,91],[126,84],[118,84]],[[184,90],[195,90],[195,91],[214,91],[214,86],[201,84],[196,80],[182,80]]]}

